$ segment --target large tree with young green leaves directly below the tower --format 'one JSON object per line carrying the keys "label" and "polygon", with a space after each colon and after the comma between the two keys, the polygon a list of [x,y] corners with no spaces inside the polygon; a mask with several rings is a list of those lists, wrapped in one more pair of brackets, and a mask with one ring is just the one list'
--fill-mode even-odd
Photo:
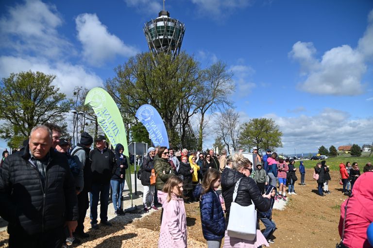
{"label": "large tree with young green leaves directly below the tower", "polygon": [[[170,145],[186,147],[189,118],[197,113],[197,95],[203,90],[199,63],[184,52],[174,60],[167,54],[148,52],[129,58],[115,73],[105,87],[119,104],[125,122],[141,105],[150,104],[164,120]],[[127,121],[125,124],[135,123],[131,118]]]}

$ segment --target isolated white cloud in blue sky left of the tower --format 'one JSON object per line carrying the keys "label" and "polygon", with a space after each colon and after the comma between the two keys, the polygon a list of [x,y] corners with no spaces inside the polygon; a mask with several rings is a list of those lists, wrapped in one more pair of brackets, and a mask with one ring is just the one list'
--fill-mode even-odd
{"label": "isolated white cloud in blue sky left of the tower", "polygon": [[85,60],[94,66],[100,66],[117,55],[133,56],[137,49],[123,43],[116,35],[108,32],[96,14],[81,14],[75,19],[78,39],[83,45]]}

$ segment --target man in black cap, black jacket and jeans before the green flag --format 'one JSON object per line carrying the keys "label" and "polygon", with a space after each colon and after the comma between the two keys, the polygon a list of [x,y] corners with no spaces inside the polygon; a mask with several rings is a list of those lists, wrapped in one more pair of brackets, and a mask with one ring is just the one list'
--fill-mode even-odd
{"label": "man in black cap, black jacket and jeans before the green flag", "polygon": [[95,140],[96,148],[89,152],[91,161],[92,186],[89,192],[89,206],[91,208],[91,227],[99,229],[97,225],[97,206],[100,198],[101,224],[111,226],[107,221],[107,207],[109,205],[110,180],[116,169],[114,152],[105,147],[106,138],[99,135]]}

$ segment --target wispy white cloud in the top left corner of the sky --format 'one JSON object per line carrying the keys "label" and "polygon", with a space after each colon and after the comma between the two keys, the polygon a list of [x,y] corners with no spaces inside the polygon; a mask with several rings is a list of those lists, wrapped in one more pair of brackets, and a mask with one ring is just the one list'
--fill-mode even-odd
{"label": "wispy white cloud in the top left corner of the sky", "polygon": [[[39,0],[26,0],[8,7],[0,18],[0,44],[18,53],[37,52],[49,58],[74,53],[71,44],[61,37],[57,28],[63,24],[56,7]],[[14,40],[14,38],[17,40]]]}

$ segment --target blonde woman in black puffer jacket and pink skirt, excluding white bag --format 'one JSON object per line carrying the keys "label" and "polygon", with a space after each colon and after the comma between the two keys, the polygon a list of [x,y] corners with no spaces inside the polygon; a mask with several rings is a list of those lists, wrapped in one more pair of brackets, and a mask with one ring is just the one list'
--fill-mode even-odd
{"label": "blonde woman in black puffer jacket and pink skirt, excluding white bag", "polygon": [[[255,208],[262,212],[267,211],[271,207],[271,194],[261,194],[254,179],[249,177],[251,170],[252,164],[250,160],[245,158],[242,153],[235,153],[232,158],[232,169],[223,170],[223,173],[221,174],[221,191],[226,208],[225,227],[229,224],[229,214],[233,202],[233,193],[238,180],[240,180],[240,182],[235,200],[237,204],[241,206],[249,206],[253,201]],[[257,248],[261,245],[269,246],[266,238],[260,230],[256,231],[254,241],[229,237],[227,231],[225,231],[223,248]]]}

